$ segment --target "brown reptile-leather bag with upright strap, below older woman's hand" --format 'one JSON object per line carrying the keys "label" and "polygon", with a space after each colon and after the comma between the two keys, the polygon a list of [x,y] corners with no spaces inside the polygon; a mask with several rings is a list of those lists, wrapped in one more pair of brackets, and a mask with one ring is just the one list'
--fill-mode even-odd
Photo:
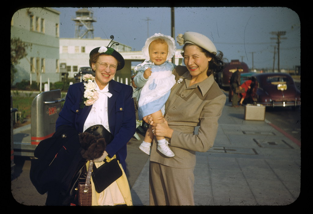
{"label": "brown reptile-leather bag with upright strap, below older woman's hand", "polygon": [[89,161],[89,167],[86,177],[86,182],[78,183],[78,205],[79,206],[91,206],[92,202],[92,192],[91,192],[91,183],[90,177],[92,172],[92,166],[94,165],[94,161]]}

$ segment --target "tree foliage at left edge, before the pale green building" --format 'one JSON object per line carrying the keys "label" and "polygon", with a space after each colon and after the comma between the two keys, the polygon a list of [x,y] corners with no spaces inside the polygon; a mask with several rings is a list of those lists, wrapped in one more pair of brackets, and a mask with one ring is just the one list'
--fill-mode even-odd
{"label": "tree foliage at left edge, before the pale green building", "polygon": [[19,63],[20,59],[27,56],[26,48],[28,46],[20,38],[11,38],[11,86],[14,81],[14,74],[17,72],[14,66]]}

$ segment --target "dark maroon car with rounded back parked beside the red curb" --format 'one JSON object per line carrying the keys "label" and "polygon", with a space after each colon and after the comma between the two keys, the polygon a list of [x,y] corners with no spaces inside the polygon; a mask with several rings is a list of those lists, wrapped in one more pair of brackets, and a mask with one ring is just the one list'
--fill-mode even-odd
{"label": "dark maroon car with rounded back parked beside the red curb", "polygon": [[254,102],[271,107],[297,107],[301,105],[300,91],[293,78],[286,73],[258,73],[252,92]]}

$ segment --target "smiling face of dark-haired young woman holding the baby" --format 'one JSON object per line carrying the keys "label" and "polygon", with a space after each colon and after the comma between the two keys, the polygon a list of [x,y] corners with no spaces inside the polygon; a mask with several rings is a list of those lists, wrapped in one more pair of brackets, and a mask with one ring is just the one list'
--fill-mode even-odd
{"label": "smiling face of dark-haired young woman holding the baby", "polygon": [[208,77],[207,71],[211,59],[196,45],[188,45],[184,49],[184,63],[192,77]]}

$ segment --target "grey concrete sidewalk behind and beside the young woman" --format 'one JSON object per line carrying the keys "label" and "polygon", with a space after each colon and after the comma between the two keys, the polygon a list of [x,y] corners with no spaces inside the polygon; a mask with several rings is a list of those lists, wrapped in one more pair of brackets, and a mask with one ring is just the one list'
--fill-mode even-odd
{"label": "grey concrete sidewalk behind and beside the young woman", "polygon": [[[214,146],[196,153],[195,205],[292,204],[300,194],[297,143],[266,120],[244,120],[244,107],[226,103]],[[131,194],[134,205],[149,205],[149,159]]]}

